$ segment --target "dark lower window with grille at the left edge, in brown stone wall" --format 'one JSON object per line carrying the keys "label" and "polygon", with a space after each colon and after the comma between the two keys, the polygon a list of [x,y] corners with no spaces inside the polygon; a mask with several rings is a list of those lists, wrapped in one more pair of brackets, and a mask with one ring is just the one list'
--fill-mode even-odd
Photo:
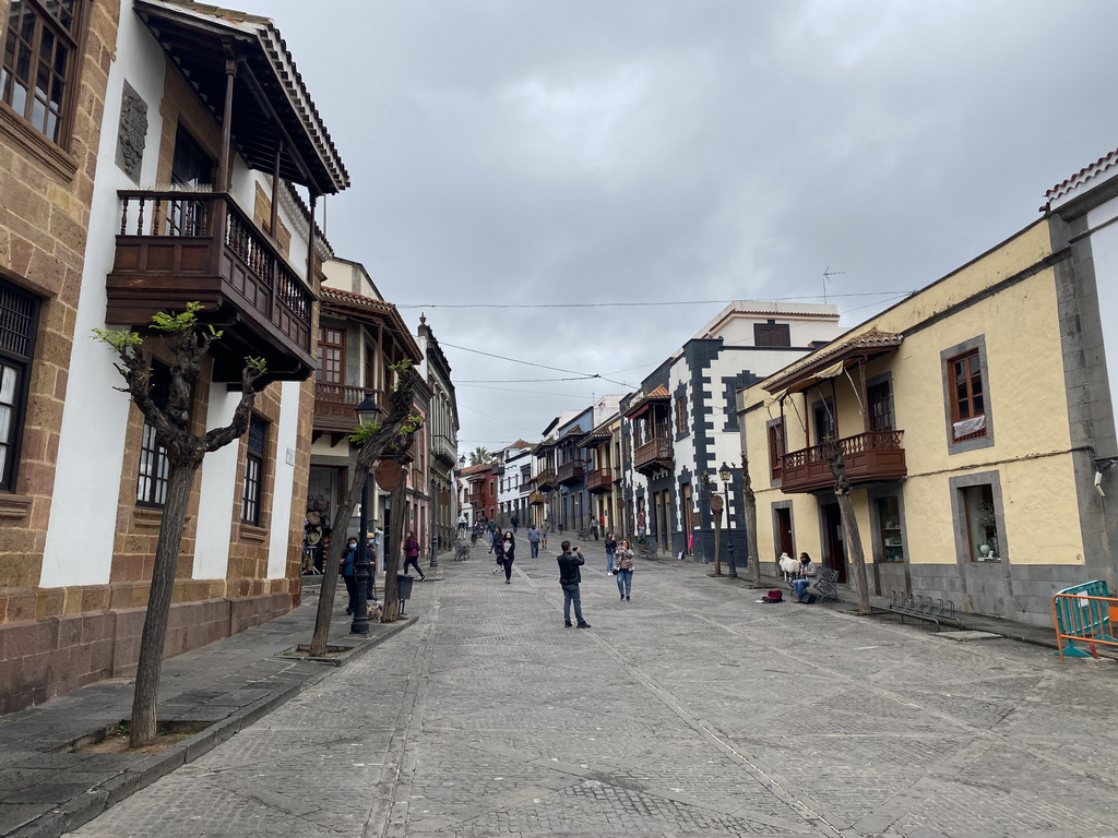
{"label": "dark lower window with grille at the left edge, in brown stone wall", "polygon": [[0,489],[16,488],[39,298],[0,279]]}

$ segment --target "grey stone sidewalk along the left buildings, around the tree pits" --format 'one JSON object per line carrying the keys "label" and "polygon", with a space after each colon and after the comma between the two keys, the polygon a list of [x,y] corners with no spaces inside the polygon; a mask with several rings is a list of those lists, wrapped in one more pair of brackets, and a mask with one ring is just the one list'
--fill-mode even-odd
{"label": "grey stone sidewalk along the left buildings, around the tree pits", "polygon": [[[101,682],[0,716],[0,836],[55,838],[76,829],[337,672],[280,657],[310,641],[316,607],[318,587],[309,585],[303,603],[287,615],[165,660],[160,721],[211,724],[160,754],[67,750],[77,739],[127,720],[131,678]],[[351,646],[347,658],[356,659],[413,622],[373,623],[368,639],[357,638],[349,634],[350,618],[338,609],[330,635],[334,645]]]}

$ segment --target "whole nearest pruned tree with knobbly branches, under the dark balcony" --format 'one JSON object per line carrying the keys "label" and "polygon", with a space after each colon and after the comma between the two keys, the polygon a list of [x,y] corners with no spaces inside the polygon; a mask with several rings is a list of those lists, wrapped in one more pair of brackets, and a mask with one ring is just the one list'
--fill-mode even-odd
{"label": "whole nearest pruned tree with knobbly branches, under the dark balcony", "polygon": [[190,502],[190,488],[210,451],[238,439],[248,428],[256,391],[266,373],[264,361],[245,359],[240,377],[240,401],[233,420],[221,428],[202,435],[190,427],[190,406],[195,383],[202,370],[202,358],[210,345],[221,337],[212,326],[198,323],[197,313],[205,306],[190,303],[179,314],[159,312],[151,318],[151,326],[163,335],[172,362],[169,365],[170,392],[165,407],[157,403],[151,392],[151,361],[145,349],[146,340],[131,330],[95,328],[97,340],[107,344],[119,361],[114,364],[124,378],[125,385],[116,388],[126,392],[155,429],[157,442],[167,453],[167,501],[155,546],[155,564],[151,575],[151,592],[143,634],[140,637],[140,659],[136,664],[135,692],[132,699],[132,723],[129,744],[132,747],[151,744],[157,732],[157,695],[163,664],[163,646],[171,613],[174,575],[182,543],[182,530]]}

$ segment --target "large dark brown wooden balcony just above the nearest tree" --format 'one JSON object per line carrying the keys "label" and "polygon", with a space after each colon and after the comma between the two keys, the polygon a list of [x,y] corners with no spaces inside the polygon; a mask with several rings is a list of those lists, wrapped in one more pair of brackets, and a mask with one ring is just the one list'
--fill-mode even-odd
{"label": "large dark brown wooden balcony just above the nearest tree", "polygon": [[275,244],[221,192],[139,191],[122,201],[105,322],[146,328],[157,312],[206,306],[222,330],[210,350],[214,379],[239,381],[246,355],[268,380],[302,381],[314,370],[314,294]]}

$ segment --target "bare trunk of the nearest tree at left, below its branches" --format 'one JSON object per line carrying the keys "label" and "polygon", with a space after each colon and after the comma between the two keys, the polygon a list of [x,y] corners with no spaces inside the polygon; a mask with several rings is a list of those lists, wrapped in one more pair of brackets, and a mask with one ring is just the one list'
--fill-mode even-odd
{"label": "bare trunk of the nearest tree at left, below its branches", "polygon": [[171,613],[171,596],[174,593],[174,575],[179,564],[187,504],[190,502],[190,488],[197,470],[198,466],[171,464],[167,477],[167,504],[159,528],[151,593],[148,598],[148,612],[144,615],[143,635],[140,638],[140,660],[136,664],[132,724],[129,730],[130,747],[148,745],[155,740],[155,708],[159,676],[163,668],[163,647],[167,645],[167,622]]}

